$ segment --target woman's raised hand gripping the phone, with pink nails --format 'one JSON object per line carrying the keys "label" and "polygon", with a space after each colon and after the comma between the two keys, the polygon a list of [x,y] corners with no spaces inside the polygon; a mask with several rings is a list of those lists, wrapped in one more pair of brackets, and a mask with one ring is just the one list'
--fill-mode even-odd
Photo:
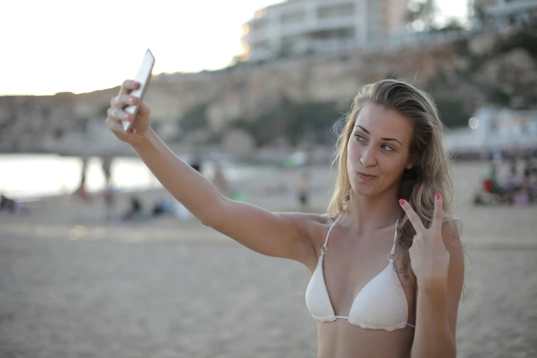
{"label": "woman's raised hand gripping the phone, with pink nails", "polygon": [[[143,136],[150,128],[150,108],[142,102],[138,108],[136,118],[132,119],[132,115],[124,109],[126,106],[136,104],[139,98],[129,95],[130,91],[138,88],[140,84],[132,80],[126,80],[119,89],[119,94],[110,101],[108,109],[108,118],[106,118],[106,126],[114,133],[121,141],[135,145],[139,143]],[[121,121],[133,121],[131,130],[125,132]]]}

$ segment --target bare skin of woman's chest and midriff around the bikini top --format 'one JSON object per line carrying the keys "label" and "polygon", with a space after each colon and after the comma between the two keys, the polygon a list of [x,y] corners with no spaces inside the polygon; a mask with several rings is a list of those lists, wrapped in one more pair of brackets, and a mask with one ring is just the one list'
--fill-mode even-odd
{"label": "bare skin of woman's chest and midriff around the bikini top", "polygon": [[[320,252],[326,234],[333,224],[332,219],[313,230],[316,252]],[[322,266],[324,282],[329,293],[335,315],[348,316],[353,302],[363,287],[377,274],[385,270],[388,255],[393,246],[395,225],[383,228],[370,235],[357,235],[339,225],[331,231],[328,250],[324,254]],[[396,247],[396,255],[401,257],[401,248]],[[308,268],[313,274],[317,267],[311,260]],[[394,265],[401,268],[401,260]],[[411,283],[398,274],[408,305],[408,322],[415,322],[416,290]],[[414,339],[414,328],[385,331],[383,329],[363,329],[350,324],[348,320],[318,322],[318,357],[409,357]]]}

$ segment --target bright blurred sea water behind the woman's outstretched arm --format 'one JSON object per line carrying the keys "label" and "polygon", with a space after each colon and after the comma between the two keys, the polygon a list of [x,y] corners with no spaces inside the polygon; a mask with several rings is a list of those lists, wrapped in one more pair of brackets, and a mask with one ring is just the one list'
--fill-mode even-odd
{"label": "bright blurred sea water behind the woman's outstretched arm", "polygon": [[[188,157],[182,158],[188,160]],[[259,168],[222,163],[228,180],[250,178]],[[0,193],[20,199],[40,198],[75,191],[80,185],[82,160],[55,154],[0,155]],[[204,163],[203,172],[209,178],[213,163]],[[136,191],[162,187],[151,171],[137,157],[117,157],[112,162],[112,184],[119,191]],[[105,180],[102,161],[92,157],[86,169],[86,189],[99,192]]]}

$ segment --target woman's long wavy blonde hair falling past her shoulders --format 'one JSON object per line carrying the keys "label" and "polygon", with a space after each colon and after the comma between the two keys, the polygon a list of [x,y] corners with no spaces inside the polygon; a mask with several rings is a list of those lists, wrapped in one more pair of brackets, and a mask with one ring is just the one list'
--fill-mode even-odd
{"label": "woman's long wavy blonde hair falling past her shoulders", "polygon": [[[371,103],[394,110],[410,119],[414,126],[410,154],[414,167],[405,169],[398,189],[398,198],[407,200],[420,216],[425,227],[433,219],[435,193],[440,193],[443,200],[444,225],[455,224],[461,230],[460,222],[453,219],[453,181],[451,179],[451,157],[442,143],[445,126],[440,120],[438,110],[430,95],[412,84],[399,80],[382,80],[375,84],[363,86],[353,100],[347,114],[336,123],[338,174],[335,188],[327,213],[337,217],[348,210],[353,195],[347,174],[347,144],[355,127],[355,121],[364,104]],[[416,235],[405,211],[401,209],[397,227],[397,244],[403,249],[403,261],[397,272],[403,272],[416,285],[409,258],[409,248]],[[395,267],[396,265],[394,265]]]}

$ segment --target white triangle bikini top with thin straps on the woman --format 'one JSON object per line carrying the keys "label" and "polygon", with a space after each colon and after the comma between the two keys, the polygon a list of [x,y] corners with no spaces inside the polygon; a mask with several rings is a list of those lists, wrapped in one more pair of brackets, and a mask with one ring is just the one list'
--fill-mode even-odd
{"label": "white triangle bikini top with thin straps on the woman", "polygon": [[[306,305],[311,315],[320,322],[331,322],[337,320],[337,318],[344,318],[350,324],[360,326],[363,329],[394,331],[396,329],[403,329],[407,325],[416,328],[407,322],[407,297],[405,296],[405,291],[403,291],[399,277],[394,271],[394,260],[391,258],[387,267],[359,291],[352,307],[350,307],[348,317],[335,315],[328,290],[326,289],[326,283],[324,282],[322,261],[324,253],[328,250],[330,232],[340,217],[342,215],[339,215],[335,219],[335,222],[330,226],[329,232],[326,234],[326,240],[322,246],[317,267],[306,289]],[[395,253],[396,240],[397,229],[394,235],[394,246],[388,257],[393,256]]]}

